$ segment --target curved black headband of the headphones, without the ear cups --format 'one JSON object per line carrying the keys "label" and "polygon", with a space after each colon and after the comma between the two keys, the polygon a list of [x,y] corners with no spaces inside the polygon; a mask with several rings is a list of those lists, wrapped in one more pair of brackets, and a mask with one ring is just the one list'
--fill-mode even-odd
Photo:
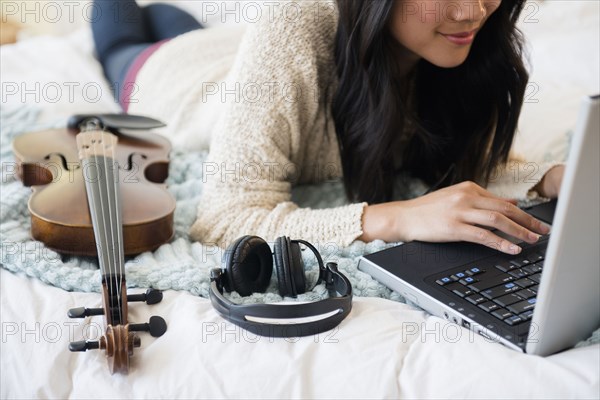
{"label": "curved black headband of the headphones, without the ear cups", "polygon": [[[223,295],[227,281],[226,272],[215,268],[210,272],[210,300],[217,312],[228,321],[261,336],[297,337],[315,335],[335,328],[352,309],[352,285],[346,276],[337,268],[335,263],[323,265],[323,259],[317,249],[304,240],[292,240],[291,243],[301,243],[308,247],[317,258],[319,264],[319,279],[317,284],[325,282],[330,292],[340,296],[330,297],[312,303],[300,304],[235,304]],[[337,312],[335,312],[337,310]],[[249,318],[307,318],[335,312],[326,318],[301,323],[269,323],[252,321]]]}

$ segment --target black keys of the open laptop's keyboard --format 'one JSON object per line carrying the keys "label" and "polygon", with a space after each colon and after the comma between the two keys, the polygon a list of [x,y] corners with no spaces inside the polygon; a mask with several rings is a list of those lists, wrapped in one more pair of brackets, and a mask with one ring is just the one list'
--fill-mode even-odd
{"label": "black keys of the open laptop's keyboard", "polygon": [[464,271],[435,281],[510,326],[529,321],[537,299],[547,243],[527,254]]}

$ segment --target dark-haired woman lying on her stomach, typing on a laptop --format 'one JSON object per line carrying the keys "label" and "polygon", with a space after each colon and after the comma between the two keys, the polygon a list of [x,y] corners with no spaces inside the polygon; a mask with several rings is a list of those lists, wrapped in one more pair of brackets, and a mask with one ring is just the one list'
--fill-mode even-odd
{"label": "dark-haired woman lying on her stomach, typing on a laptop", "polygon": [[[138,56],[134,65],[147,61],[133,68],[139,96],[129,111],[165,119],[176,142],[198,144],[208,134],[193,133],[202,125],[195,116],[213,110],[211,100],[222,104],[202,166],[197,240],[465,240],[517,254],[488,228],[529,243],[548,233],[514,199],[556,197],[563,171],[509,159],[528,78],[515,28],[523,3],[281,3],[249,24],[239,47],[215,45],[206,29]],[[101,37],[101,24],[94,29]],[[231,57],[226,77],[206,80],[197,69],[219,56]],[[394,201],[405,175],[430,193]],[[351,204],[312,210],[291,201],[293,185],[337,178]]]}

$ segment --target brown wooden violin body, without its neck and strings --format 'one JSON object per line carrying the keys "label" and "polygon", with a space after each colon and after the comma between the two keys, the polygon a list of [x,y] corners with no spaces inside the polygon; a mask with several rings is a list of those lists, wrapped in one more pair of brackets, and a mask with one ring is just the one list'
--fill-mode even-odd
{"label": "brown wooden violin body, without its neck and strings", "polygon": [[[31,233],[51,249],[96,255],[85,180],[97,177],[97,166],[82,168],[76,136],[79,129],[53,129],[17,137],[13,150],[18,172],[33,187],[29,200]],[[123,198],[126,255],[154,250],[173,236],[175,200],[163,182],[168,175],[167,139],[137,130],[119,130],[115,165]]]}

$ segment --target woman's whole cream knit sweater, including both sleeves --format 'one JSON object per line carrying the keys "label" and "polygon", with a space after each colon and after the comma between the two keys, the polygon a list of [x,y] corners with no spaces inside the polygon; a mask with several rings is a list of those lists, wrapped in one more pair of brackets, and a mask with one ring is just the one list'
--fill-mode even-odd
{"label": "woman's whole cream knit sweater, including both sleeves", "polygon": [[[336,85],[337,13],[332,2],[295,4],[263,13],[247,29],[210,28],[173,39],[138,74],[131,113],[165,121],[163,133],[175,145],[210,143],[207,161],[198,165],[205,176],[191,229],[198,241],[226,246],[245,234],[268,241],[288,235],[346,246],[362,234],[366,203],[313,210],[291,201],[293,185],[342,175],[328,107]],[[552,165],[511,161],[488,189],[531,196]]]}

